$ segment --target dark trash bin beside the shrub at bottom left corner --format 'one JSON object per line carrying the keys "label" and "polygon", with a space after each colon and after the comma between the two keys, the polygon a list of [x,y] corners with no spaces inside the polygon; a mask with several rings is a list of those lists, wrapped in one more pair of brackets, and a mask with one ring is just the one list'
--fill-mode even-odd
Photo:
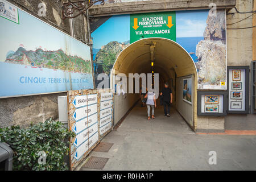
{"label": "dark trash bin beside the shrub at bottom left corner", "polygon": [[0,142],[0,163],[5,162],[5,171],[13,170],[13,150],[6,143]]}

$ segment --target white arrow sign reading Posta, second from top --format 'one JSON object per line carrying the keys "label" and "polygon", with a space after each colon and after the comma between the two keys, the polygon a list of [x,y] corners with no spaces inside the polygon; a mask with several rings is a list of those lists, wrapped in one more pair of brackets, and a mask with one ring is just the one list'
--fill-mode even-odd
{"label": "white arrow sign reading Posta, second from top", "polygon": [[97,113],[97,104],[90,105],[87,107],[80,107],[75,110],[73,114],[73,118],[75,119],[75,121],[79,121],[80,119],[86,118],[88,115]]}

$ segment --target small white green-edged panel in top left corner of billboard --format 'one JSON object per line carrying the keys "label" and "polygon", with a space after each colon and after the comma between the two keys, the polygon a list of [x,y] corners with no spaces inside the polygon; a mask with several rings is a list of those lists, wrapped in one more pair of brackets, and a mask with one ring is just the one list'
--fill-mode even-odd
{"label": "small white green-edged panel in top left corner of billboard", "polygon": [[18,8],[5,0],[0,0],[0,16],[19,24]]}

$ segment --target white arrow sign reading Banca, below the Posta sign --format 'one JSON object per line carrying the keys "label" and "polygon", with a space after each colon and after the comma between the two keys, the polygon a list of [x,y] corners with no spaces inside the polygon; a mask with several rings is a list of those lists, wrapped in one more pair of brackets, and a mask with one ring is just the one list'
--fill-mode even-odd
{"label": "white arrow sign reading Banca, below the Posta sign", "polygon": [[87,127],[91,126],[93,123],[98,121],[98,115],[97,113],[90,115],[88,118],[88,123],[87,123],[87,118],[84,118],[80,121],[77,121],[75,123],[75,125],[73,126],[73,131],[75,132],[75,134],[80,133],[82,130],[87,129]]}

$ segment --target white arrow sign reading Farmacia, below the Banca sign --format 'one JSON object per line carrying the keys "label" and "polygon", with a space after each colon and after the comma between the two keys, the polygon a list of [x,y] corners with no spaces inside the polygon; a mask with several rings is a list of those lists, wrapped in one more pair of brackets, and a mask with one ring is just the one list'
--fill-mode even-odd
{"label": "white arrow sign reading Farmacia, below the Banca sign", "polygon": [[89,129],[86,129],[82,131],[80,134],[76,135],[75,138],[75,146],[78,147],[80,144],[82,144],[85,140],[88,139],[88,134],[89,137],[92,136],[95,132],[98,132],[98,122],[94,123],[92,126],[89,127]]}

